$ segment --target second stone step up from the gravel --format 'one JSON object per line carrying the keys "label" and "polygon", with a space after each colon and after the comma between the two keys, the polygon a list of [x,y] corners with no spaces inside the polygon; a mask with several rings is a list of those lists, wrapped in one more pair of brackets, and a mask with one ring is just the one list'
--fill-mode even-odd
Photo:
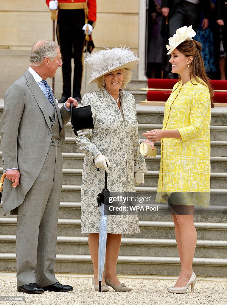
{"label": "second stone step up from the gravel", "polygon": [[[16,252],[16,235],[0,235],[2,253]],[[226,258],[226,240],[198,240],[194,257]],[[58,236],[57,254],[86,255],[89,253],[88,237]],[[178,257],[175,239],[122,238],[120,256],[153,256],[165,253],[167,257]]]}

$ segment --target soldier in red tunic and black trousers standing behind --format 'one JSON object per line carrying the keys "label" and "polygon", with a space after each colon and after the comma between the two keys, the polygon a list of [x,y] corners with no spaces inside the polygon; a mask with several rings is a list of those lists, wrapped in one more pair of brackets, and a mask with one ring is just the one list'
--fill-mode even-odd
{"label": "soldier in red tunic and black trousers standing behind", "polygon": [[[70,96],[81,102],[83,49],[85,33],[92,33],[96,20],[96,0],[46,0],[49,9],[58,8],[57,39],[61,46],[63,93],[59,103]],[[73,92],[71,92],[71,58],[74,58]],[[71,94],[72,93],[72,94]]]}

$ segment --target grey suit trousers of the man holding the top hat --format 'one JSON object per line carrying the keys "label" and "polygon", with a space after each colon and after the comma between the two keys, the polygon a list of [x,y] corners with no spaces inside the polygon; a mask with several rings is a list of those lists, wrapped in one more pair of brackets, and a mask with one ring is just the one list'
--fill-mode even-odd
{"label": "grey suit trousers of the man holding the top hat", "polygon": [[[54,275],[57,220],[62,186],[59,141],[51,142],[41,171],[18,206],[16,253],[17,286],[57,282]],[[58,145],[58,146],[55,146]]]}

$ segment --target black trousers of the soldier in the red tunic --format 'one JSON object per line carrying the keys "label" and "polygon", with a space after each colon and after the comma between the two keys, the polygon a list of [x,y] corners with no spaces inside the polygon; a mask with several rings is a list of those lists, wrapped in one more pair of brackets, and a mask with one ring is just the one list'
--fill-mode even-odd
{"label": "black trousers of the soldier in the red tunic", "polygon": [[[83,72],[83,49],[85,34],[84,9],[59,9],[57,38],[62,54],[63,94],[66,97],[78,96],[81,90]],[[74,59],[73,92],[71,92],[71,59]]]}

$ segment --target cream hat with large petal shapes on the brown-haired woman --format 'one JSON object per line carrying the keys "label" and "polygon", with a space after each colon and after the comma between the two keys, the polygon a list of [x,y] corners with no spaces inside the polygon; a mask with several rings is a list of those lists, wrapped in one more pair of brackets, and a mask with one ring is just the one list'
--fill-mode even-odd
{"label": "cream hat with large petal shapes on the brown-haired woman", "polygon": [[166,45],[166,48],[168,50],[167,55],[171,54],[171,52],[183,41],[192,40],[192,37],[195,36],[196,32],[193,30],[192,25],[190,25],[190,27],[180,27],[177,30],[176,34],[174,34],[173,37],[169,38],[169,45]]}

